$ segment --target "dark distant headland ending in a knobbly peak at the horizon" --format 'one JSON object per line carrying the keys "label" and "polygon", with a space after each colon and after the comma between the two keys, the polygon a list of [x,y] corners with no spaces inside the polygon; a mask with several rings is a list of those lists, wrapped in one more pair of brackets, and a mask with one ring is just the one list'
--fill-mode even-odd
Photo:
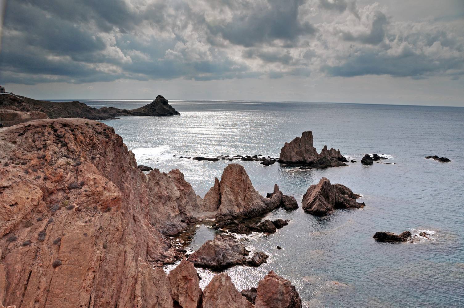
{"label": "dark distant headland ending in a knobbly peak at the horizon", "polygon": [[137,109],[118,109],[110,108],[93,108],[78,101],[73,102],[48,102],[39,101],[25,96],[1,95],[0,109],[10,109],[16,111],[40,111],[45,113],[49,118],[86,118],[90,120],[109,120],[115,119],[121,115],[149,115],[165,116],[180,115],[172,106],[168,104],[163,96],[158,95],[156,99]]}

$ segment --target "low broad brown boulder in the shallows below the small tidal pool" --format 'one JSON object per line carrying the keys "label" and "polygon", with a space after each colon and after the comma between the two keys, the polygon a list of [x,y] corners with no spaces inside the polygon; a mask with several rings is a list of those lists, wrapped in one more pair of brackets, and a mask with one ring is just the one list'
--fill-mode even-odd
{"label": "low broad brown boulder in the shallows below the small tidal pool", "polygon": [[218,234],[194,251],[188,261],[195,266],[213,270],[225,270],[247,262],[249,251],[235,237]]}

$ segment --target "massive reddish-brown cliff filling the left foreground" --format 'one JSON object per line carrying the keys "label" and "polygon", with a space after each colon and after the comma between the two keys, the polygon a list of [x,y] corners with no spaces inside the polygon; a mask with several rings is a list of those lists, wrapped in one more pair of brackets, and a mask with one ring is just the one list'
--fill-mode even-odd
{"label": "massive reddish-brown cliff filling the left foreground", "polygon": [[89,120],[32,121],[0,140],[0,302],[165,307],[151,270],[172,257],[161,231],[198,206],[182,173],[143,174],[113,128]]}

